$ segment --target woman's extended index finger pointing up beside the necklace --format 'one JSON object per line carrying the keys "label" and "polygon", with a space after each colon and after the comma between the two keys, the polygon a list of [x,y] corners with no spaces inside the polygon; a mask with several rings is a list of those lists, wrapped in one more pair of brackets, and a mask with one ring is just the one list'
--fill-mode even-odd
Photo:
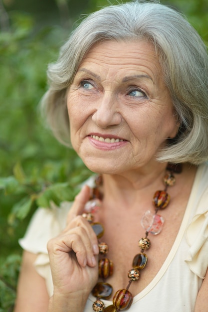
{"label": "woman's extended index finger pointing up beside the necklace", "polygon": [[77,215],[80,215],[84,211],[84,206],[89,200],[90,197],[90,187],[88,185],[84,185],[81,191],[76,195],[74,199],[74,203],[69,210],[67,215],[67,224],[73,220]]}

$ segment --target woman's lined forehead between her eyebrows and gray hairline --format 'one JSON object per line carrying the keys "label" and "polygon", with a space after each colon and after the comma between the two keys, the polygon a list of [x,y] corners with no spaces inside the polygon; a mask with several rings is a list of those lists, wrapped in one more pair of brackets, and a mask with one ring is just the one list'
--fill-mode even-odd
{"label": "woman's lined forehead between her eyebrows and gray hairline", "polygon": [[[101,73],[140,71],[150,75],[153,80],[161,74],[161,66],[153,44],[146,41],[113,41],[96,43],[82,60],[81,68],[96,68]],[[100,73],[98,73],[100,74]]]}

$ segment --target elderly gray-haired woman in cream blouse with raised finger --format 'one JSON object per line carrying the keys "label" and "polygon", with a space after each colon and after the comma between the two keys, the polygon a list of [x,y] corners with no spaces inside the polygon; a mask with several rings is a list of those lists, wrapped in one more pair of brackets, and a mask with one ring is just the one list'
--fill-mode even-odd
{"label": "elderly gray-haired woman in cream blouse with raised finger", "polygon": [[[55,136],[96,174],[39,208],[15,312],[208,311],[208,56],[159,3],[89,15],[49,66]],[[70,143],[69,143],[70,129]]]}

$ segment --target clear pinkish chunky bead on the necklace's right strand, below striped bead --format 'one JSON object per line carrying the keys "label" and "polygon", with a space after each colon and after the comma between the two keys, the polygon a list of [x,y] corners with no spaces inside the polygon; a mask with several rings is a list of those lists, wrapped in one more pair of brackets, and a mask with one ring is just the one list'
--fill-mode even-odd
{"label": "clear pinkish chunky bead on the necklace's right strand, below striped bead", "polygon": [[162,231],[164,218],[147,210],[142,217],[141,225],[149,233],[157,235]]}

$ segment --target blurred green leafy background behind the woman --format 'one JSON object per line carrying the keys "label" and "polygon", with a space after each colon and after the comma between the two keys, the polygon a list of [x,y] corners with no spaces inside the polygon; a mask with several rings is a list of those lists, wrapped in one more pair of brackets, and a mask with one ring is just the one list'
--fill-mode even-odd
{"label": "blurred green leafy background behind the woman", "polygon": [[[208,44],[208,0],[161,3],[183,12]],[[70,31],[83,14],[108,4],[0,0],[0,312],[13,310],[21,262],[18,239],[31,215],[50,200],[72,200],[75,185],[90,174],[74,151],[46,129],[38,103],[47,88],[47,64],[56,60]]]}

